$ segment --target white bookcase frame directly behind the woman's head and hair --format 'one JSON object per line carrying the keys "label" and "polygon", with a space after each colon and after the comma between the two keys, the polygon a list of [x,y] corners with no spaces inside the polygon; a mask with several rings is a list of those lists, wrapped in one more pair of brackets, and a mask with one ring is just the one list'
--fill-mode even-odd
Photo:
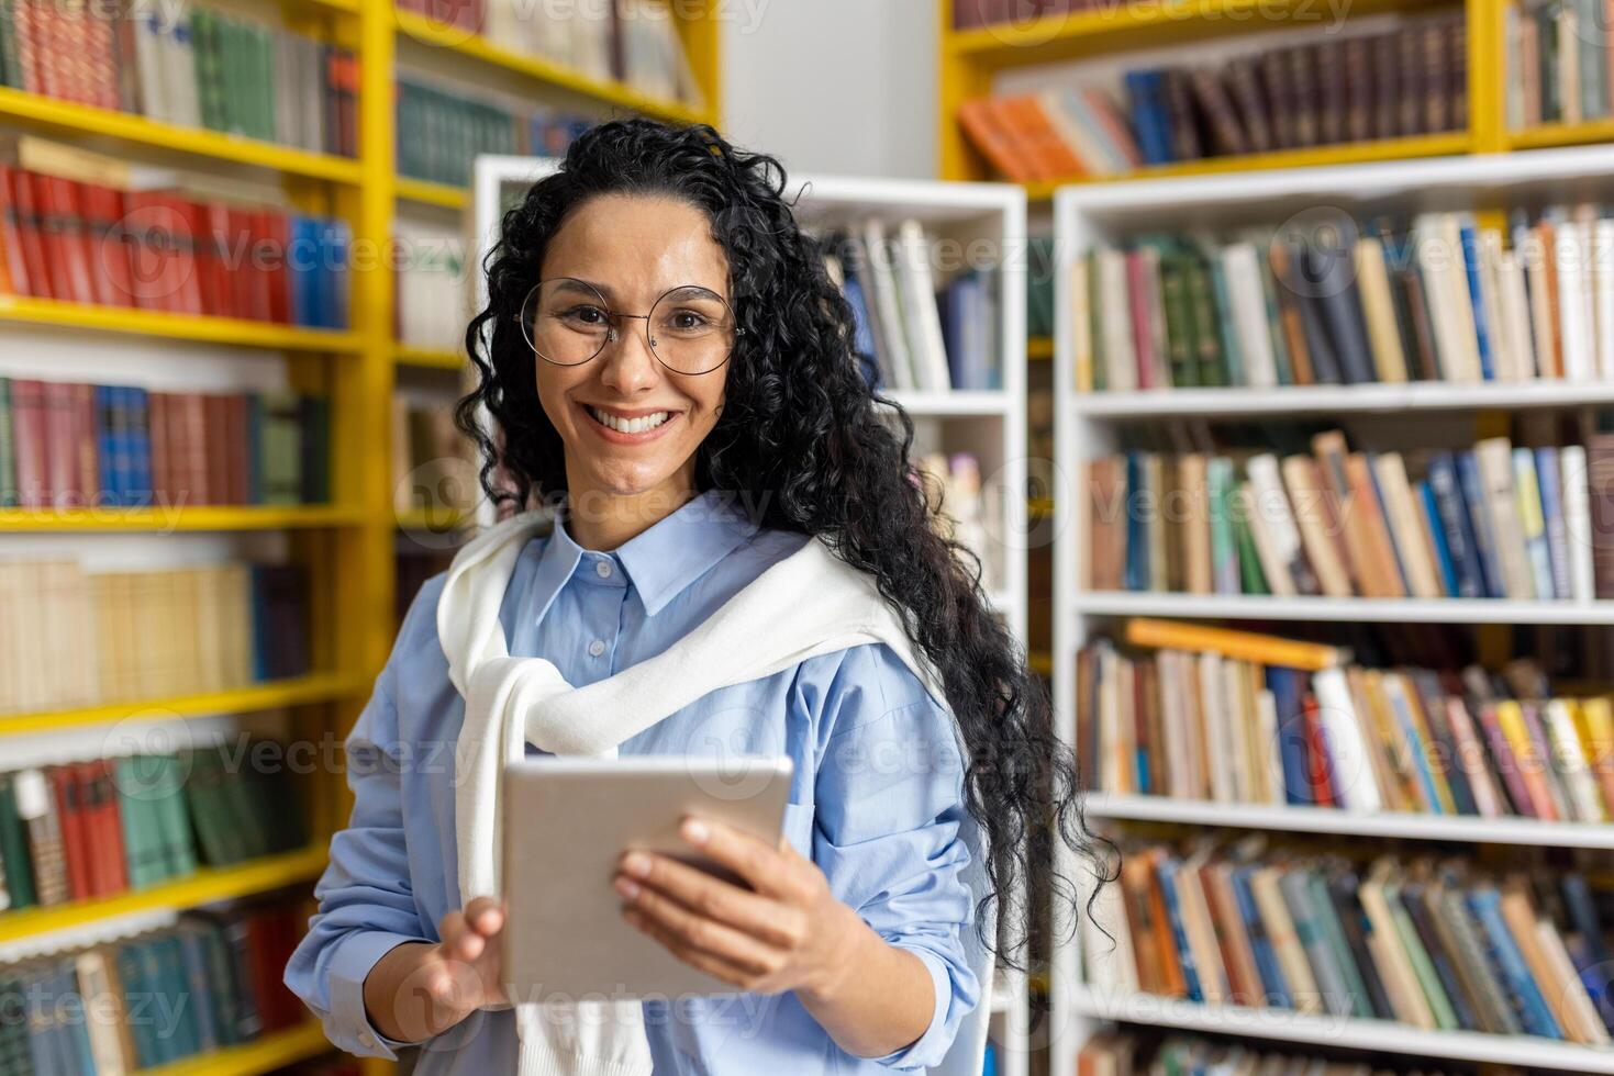
{"label": "white bookcase frame directly behind the woman's head and hair", "polygon": [[[557,161],[526,156],[476,158],[466,265],[479,266],[497,237],[500,195],[525,189]],[[986,242],[1002,252],[999,273],[999,361],[1002,389],[991,392],[889,392],[914,419],[915,453],[970,452],[981,465],[983,497],[999,505],[991,553],[1002,571],[988,586],[993,607],[1018,639],[1027,636],[1025,544],[1025,192],[1010,184],[867,179],[854,176],[796,176],[784,195],[809,231],[880,218],[889,227],[914,218],[930,239],[959,244]],[[936,266],[938,284],[946,266]],[[486,281],[473,277],[476,308],[486,305]],[[487,511],[487,507],[483,507]],[[1004,1076],[1028,1073],[1028,1007],[1025,976],[1001,973],[991,999],[991,1037],[999,1047]],[[980,1044],[959,1045],[935,1070],[943,1076],[978,1076]]]}

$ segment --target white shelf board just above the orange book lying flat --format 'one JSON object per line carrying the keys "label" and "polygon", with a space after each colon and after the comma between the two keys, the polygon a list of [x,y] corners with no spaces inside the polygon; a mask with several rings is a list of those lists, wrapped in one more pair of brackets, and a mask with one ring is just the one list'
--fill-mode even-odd
{"label": "white shelf board just above the orange book lying flat", "polygon": [[1414,624],[1614,624],[1614,602],[1503,598],[1323,598],[1093,590],[1072,600],[1093,616],[1317,619]]}

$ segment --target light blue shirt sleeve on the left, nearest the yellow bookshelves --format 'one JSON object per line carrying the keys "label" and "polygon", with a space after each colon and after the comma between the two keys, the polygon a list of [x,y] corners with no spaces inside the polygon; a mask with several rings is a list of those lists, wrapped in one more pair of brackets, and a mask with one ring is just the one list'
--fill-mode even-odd
{"label": "light blue shirt sleeve on the left, nearest the yellow bookshelves", "polygon": [[400,750],[394,666],[376,679],[344,747],[353,811],[331,837],[331,861],[315,886],[318,911],[286,966],[286,986],[324,1024],[326,1037],[349,1053],[395,1060],[408,1045],[384,1037],[365,1013],[365,976],[404,942],[436,940],[410,889],[404,840]]}

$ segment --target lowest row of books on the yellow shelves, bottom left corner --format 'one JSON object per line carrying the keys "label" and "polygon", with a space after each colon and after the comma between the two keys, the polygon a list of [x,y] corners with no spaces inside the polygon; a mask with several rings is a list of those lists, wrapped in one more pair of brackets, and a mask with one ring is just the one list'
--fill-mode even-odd
{"label": "lowest row of books on the yellow shelves, bottom left corner", "polygon": [[302,903],[197,908],[132,937],[0,968],[0,1070],[118,1076],[302,1023],[302,1003],[281,982],[302,937]]}

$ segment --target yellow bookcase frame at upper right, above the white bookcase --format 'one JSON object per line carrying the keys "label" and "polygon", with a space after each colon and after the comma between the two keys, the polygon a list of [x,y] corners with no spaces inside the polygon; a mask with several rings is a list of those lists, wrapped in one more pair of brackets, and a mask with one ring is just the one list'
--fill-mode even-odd
{"label": "yellow bookcase frame at upper right, above the white bookcase", "polygon": [[[1349,6],[1349,18],[1386,11],[1425,11],[1446,6],[1441,0],[1361,0]],[[959,105],[985,97],[993,79],[1009,69],[1070,60],[1115,56],[1136,48],[1181,45],[1235,34],[1293,31],[1323,18],[1312,0],[1101,0],[1088,11],[1047,15],[967,31],[952,29],[954,0],[938,0],[941,18],[938,79],[939,171],[944,179],[986,179],[989,169],[959,129]],[[1320,145],[1220,156],[1181,165],[1141,168],[1119,179],[1206,176],[1319,165],[1359,165],[1367,161],[1459,153],[1501,153],[1511,148],[1574,145],[1614,139],[1614,121],[1507,132],[1503,118],[1506,40],[1503,19],[1506,0],[1466,0],[1469,124],[1448,134]],[[1033,200],[1052,198],[1054,189],[1088,182],[1072,176],[1056,182],[1025,184]]]}

